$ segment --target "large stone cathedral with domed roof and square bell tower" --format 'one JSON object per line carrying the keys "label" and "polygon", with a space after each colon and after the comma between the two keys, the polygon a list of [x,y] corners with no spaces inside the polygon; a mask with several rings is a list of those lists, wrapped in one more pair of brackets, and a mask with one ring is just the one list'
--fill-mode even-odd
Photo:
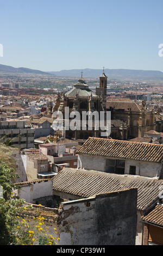
{"label": "large stone cathedral with domed roof and square bell tower", "polygon": [[[106,111],[111,113],[111,138],[131,139],[143,137],[143,133],[155,129],[154,109],[147,109],[146,102],[141,105],[130,99],[108,99],[107,76],[104,69],[99,77],[99,87],[93,92],[84,80],[83,76],[74,84],[73,88],[65,94],[58,94],[55,106],[49,109],[49,115],[54,111],[60,111],[65,119],[65,107],[69,108],[69,113],[78,111],[82,118],[83,111]],[[71,121],[71,118],[69,119]],[[96,130],[93,123],[92,130],[86,125],[86,130],[63,131],[62,136],[73,139],[87,139],[89,137],[101,137],[101,129]]]}

